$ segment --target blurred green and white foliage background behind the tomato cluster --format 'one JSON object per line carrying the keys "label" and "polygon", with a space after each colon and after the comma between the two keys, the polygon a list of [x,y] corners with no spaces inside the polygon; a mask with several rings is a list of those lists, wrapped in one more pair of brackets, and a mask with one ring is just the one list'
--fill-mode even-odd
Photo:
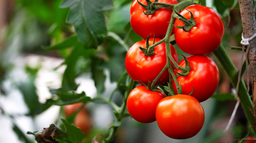
{"label": "blurred green and white foliage background behind the tomato cluster", "polygon": [[[91,142],[96,134],[108,135],[114,119],[113,108],[98,104],[105,102],[97,99],[113,95],[117,105],[123,101],[125,87],[120,85],[127,82],[126,52],[141,40],[130,26],[131,2],[0,1],[0,142],[35,142],[26,132],[39,131],[52,123],[64,131],[72,128],[74,135],[80,134],[72,126],[77,112],[68,117],[63,113],[64,105],[77,102],[86,104],[86,116],[91,119],[88,124],[92,124],[86,137],[82,135],[82,142]],[[223,19],[222,43],[238,67],[241,52],[228,49],[228,46],[241,46],[238,3],[236,0],[206,2]],[[174,46],[178,55],[189,56]],[[202,103],[205,123],[198,135],[186,140],[170,139],[161,133],[156,122],[142,124],[128,117],[117,125],[113,143],[222,143],[243,138],[249,126],[242,108],[229,131],[223,132],[236,101],[223,68],[213,54],[207,56],[218,65],[221,80],[216,95]]]}

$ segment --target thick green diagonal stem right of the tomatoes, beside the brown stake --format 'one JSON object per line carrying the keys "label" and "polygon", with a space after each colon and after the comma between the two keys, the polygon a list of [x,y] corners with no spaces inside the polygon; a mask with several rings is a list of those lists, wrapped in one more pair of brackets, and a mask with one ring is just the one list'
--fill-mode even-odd
{"label": "thick green diagonal stem right of the tomatoes, beside the brown stake", "polygon": [[[223,45],[221,44],[214,52],[214,55],[219,59],[220,63],[224,67],[232,85],[234,88],[237,86],[238,76],[237,76],[237,69],[231,59],[229,58],[227,52],[225,51]],[[248,119],[249,124],[252,126],[255,122],[253,112],[253,104],[250,99],[249,93],[245,87],[245,83],[243,80],[240,81],[238,90],[238,96],[241,101],[241,105],[244,109],[245,115]],[[251,112],[252,111],[252,112]],[[253,128],[253,132],[256,135],[256,130]]]}

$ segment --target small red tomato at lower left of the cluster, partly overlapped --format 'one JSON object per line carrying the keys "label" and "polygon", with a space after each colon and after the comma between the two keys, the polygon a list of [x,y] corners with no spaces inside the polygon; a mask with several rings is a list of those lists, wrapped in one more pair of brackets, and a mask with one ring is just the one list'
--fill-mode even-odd
{"label": "small red tomato at lower left of the cluster, partly overlapped", "polygon": [[162,92],[148,90],[142,85],[135,87],[127,98],[127,110],[132,118],[141,123],[154,122],[157,104],[164,96]]}

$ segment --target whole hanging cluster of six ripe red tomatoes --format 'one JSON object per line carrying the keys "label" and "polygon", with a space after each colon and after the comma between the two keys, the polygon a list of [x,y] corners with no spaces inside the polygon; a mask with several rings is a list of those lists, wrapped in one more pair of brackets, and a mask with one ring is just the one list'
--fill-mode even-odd
{"label": "whole hanging cluster of six ripe red tomatoes", "polygon": [[[206,54],[213,52],[221,44],[224,25],[218,13],[211,8],[190,5],[183,10],[176,9],[180,12],[176,13],[176,19],[172,23],[174,37],[178,47],[191,55],[177,64],[175,48],[170,44],[169,50],[169,43],[162,41],[169,38],[165,35],[171,18],[174,18],[172,8],[161,7],[148,15],[147,10],[152,10],[152,7],[145,9],[147,7],[144,5],[151,4],[150,2],[134,0],[130,9],[133,30],[147,40],[138,41],[131,46],[125,58],[129,76],[142,84],[130,92],[127,110],[139,122],[157,121],[160,130],[168,137],[190,138],[203,127],[204,110],[200,102],[209,99],[219,84],[218,67]],[[179,4],[176,0],[158,2]],[[184,23],[184,19],[194,22],[194,25],[189,29],[184,28],[184,25],[189,25]],[[155,37],[152,38],[152,35]],[[152,45],[154,48],[150,48]],[[145,53],[148,49],[151,50],[151,55]],[[169,63],[170,56],[173,60]],[[176,62],[176,66],[173,66],[175,64],[172,61]],[[183,74],[184,69],[188,70],[187,74]],[[170,90],[176,95],[172,95]]]}

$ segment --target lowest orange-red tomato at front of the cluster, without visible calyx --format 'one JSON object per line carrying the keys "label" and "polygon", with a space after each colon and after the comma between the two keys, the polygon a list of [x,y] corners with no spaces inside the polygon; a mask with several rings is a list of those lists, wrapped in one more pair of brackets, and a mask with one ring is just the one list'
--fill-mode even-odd
{"label": "lowest orange-red tomato at front of the cluster, without visible calyx", "polygon": [[160,130],[168,137],[186,139],[202,129],[204,111],[202,105],[192,96],[168,96],[158,103],[156,120]]}

